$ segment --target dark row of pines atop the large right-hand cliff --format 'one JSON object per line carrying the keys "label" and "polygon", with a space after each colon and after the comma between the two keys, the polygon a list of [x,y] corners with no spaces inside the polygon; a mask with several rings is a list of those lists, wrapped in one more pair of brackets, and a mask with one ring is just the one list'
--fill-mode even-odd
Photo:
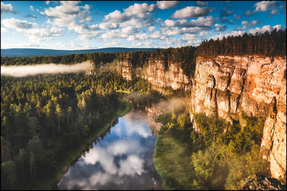
{"label": "dark row of pines atop the large right-hand cliff", "polygon": [[265,33],[256,32],[244,33],[242,36],[228,35],[223,37],[222,40],[204,40],[197,47],[198,56],[216,56],[222,54],[286,54],[286,29],[277,30],[276,28]]}

